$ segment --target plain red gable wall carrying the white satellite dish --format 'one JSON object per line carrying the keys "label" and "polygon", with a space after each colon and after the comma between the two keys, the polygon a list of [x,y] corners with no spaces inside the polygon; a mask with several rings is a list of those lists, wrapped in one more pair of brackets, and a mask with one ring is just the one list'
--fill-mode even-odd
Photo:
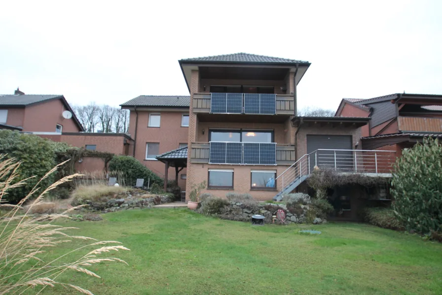
{"label": "plain red gable wall carrying the white satellite dish", "polygon": [[23,120],[23,131],[55,132],[56,124],[60,124],[63,126],[63,132],[79,132],[80,129],[73,118],[63,118],[63,111],[66,111],[66,108],[61,99],[27,106]]}

